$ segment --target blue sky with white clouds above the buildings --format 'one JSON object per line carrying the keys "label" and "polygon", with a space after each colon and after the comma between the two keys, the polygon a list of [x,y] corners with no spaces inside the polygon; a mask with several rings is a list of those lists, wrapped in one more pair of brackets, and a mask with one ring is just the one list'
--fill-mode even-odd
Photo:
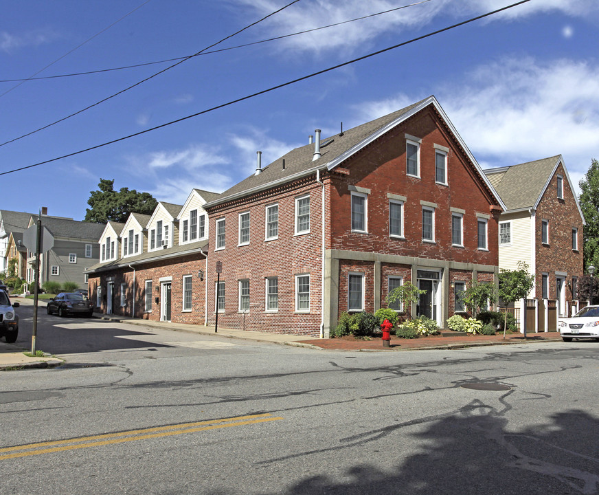
{"label": "blue sky with white clouds above the buildings", "polygon": [[[291,0],[5,2],[0,79],[62,76],[200,52]],[[385,10],[166,69],[0,82],[0,173],[199,113],[490,12],[514,0],[299,0],[213,47]],[[0,208],[83,219],[100,178],[183,204],[262,163],[435,95],[483,168],[563,155],[578,187],[599,159],[599,2],[531,0],[449,32],[109,146],[0,175]]]}

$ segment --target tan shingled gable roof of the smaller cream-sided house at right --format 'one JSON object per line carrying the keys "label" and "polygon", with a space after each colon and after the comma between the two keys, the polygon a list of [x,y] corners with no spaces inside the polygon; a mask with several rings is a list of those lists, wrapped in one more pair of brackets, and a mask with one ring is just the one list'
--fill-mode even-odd
{"label": "tan shingled gable roof of the smaller cream-sided house at right", "polygon": [[[565,179],[568,181],[570,189],[574,191],[562,155],[501,168],[488,168],[484,170],[484,173],[495,184],[495,190],[506,203],[508,211],[529,208],[536,210],[560,164],[564,169]],[[580,204],[575,194],[574,201],[576,201],[580,218],[585,223],[583,210],[580,210]]]}

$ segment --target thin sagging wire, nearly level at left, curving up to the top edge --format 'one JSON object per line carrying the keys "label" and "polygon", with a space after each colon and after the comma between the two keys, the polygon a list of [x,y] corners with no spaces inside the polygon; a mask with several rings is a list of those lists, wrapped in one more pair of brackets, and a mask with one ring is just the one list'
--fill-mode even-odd
{"label": "thin sagging wire, nearly level at left, curving up to the top edge", "polygon": [[71,74],[58,74],[56,76],[43,76],[43,77],[38,77],[38,78],[30,77],[30,78],[26,78],[26,79],[0,79],[0,83],[14,83],[17,81],[27,81],[27,80],[44,80],[44,79],[67,78],[67,77],[74,77],[74,76],[87,76],[89,74],[101,74],[102,72],[112,72],[112,71],[124,70],[124,69],[136,69],[137,67],[146,67],[148,65],[157,65],[157,64],[166,63],[166,62],[174,62],[174,61],[184,60],[185,58],[190,58],[190,57],[195,57],[195,56],[200,56],[200,55],[209,55],[209,54],[215,54],[215,53],[220,53],[220,52],[227,52],[229,50],[237,50],[238,48],[245,48],[245,47],[249,47],[252,45],[259,45],[260,43],[267,43],[269,41],[278,41],[280,39],[290,38],[291,36],[298,36],[299,34],[306,34],[309,32],[324,30],[324,29],[328,29],[328,28],[335,28],[338,25],[347,24],[347,23],[351,23],[351,22],[355,22],[355,21],[362,21],[363,19],[368,19],[370,17],[376,17],[376,16],[382,15],[382,14],[389,14],[389,12],[395,12],[396,10],[402,10],[405,8],[414,7],[416,5],[420,5],[422,3],[427,3],[429,1],[431,1],[431,0],[422,0],[422,1],[419,1],[416,3],[410,3],[409,5],[402,5],[401,7],[396,7],[396,8],[392,8],[389,10],[383,10],[383,12],[376,12],[374,14],[368,14],[368,15],[365,15],[362,17],[348,19],[347,21],[340,21],[338,23],[320,26],[319,28],[298,31],[298,32],[291,33],[291,34],[282,34],[282,36],[275,36],[274,38],[263,39],[260,41],[253,41],[251,43],[244,43],[243,45],[236,45],[233,47],[221,48],[219,50],[210,50],[207,52],[202,52],[200,54],[194,54],[191,56],[165,58],[164,60],[161,60],[161,61],[139,63],[139,64],[133,64],[133,65],[123,65],[122,67],[112,67],[111,69],[97,69],[97,70],[86,71],[86,72],[72,72]]}

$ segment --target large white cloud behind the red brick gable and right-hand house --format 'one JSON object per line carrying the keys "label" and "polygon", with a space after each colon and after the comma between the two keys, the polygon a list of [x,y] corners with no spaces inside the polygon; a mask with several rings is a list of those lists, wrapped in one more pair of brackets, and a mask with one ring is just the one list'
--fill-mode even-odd
{"label": "large white cloud behind the red brick gable and right-hand house", "polygon": [[[599,155],[599,65],[506,58],[438,91],[438,100],[483,168],[563,155],[576,188]],[[364,102],[360,122],[427,94]]]}

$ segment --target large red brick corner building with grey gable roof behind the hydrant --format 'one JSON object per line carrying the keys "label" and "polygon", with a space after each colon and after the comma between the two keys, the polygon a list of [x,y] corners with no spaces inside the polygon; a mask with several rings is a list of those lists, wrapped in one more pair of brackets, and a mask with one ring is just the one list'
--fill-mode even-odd
{"label": "large red brick corner building with grey gable roof behind the hydrant", "polygon": [[[207,322],[328,336],[343,311],[444,326],[468,281],[497,283],[504,203],[436,98],[296,148],[204,205]],[[222,263],[217,286],[216,263]]]}

